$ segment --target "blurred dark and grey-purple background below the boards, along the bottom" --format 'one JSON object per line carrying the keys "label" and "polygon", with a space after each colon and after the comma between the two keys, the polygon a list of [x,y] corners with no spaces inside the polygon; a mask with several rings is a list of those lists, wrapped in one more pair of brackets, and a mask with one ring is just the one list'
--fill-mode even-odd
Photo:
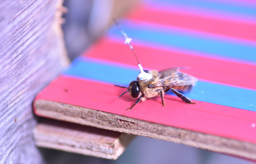
{"label": "blurred dark and grey-purple background below the boards, along the bottom", "polygon": [[252,164],[240,158],[142,136],[137,136],[117,160],[40,150],[47,151],[44,160],[48,164]]}

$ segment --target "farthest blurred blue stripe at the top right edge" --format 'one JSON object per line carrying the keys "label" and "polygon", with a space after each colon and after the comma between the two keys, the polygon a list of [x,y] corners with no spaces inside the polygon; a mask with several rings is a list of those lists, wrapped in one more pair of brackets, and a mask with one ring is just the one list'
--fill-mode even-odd
{"label": "farthest blurred blue stripe at the top right edge", "polygon": [[256,3],[248,4],[246,2],[227,2],[227,1],[211,1],[211,0],[147,0],[149,4],[160,4],[163,6],[179,5],[189,6],[193,8],[202,8],[216,12],[226,12],[231,14],[240,14],[244,16],[256,17]]}

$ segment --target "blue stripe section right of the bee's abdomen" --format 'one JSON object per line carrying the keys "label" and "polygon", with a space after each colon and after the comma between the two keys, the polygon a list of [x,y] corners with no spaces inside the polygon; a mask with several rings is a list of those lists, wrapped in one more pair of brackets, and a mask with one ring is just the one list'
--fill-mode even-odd
{"label": "blue stripe section right of the bee's abdomen", "polygon": [[256,111],[256,91],[199,80],[185,96],[204,102]]}

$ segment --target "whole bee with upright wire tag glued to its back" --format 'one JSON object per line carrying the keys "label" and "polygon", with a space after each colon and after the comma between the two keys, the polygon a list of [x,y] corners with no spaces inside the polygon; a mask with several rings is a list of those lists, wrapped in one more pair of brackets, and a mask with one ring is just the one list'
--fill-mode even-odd
{"label": "whole bee with upright wire tag glued to its back", "polygon": [[[125,44],[130,46],[130,49],[134,52],[132,45],[130,44],[131,38],[128,38],[126,33],[120,28],[117,21],[114,19],[116,26],[120,29],[121,33],[124,35]],[[136,56],[135,52],[134,55]],[[137,99],[134,105],[130,108],[126,108],[126,110],[131,110],[136,104],[140,101],[145,101],[147,98],[152,98],[155,96],[159,96],[162,99],[162,106],[164,106],[164,93],[171,90],[176,96],[181,98],[184,102],[188,104],[196,104],[193,103],[190,98],[183,96],[182,93],[188,92],[192,89],[192,84],[197,82],[197,78],[180,72],[180,67],[168,68],[165,70],[157,71],[157,70],[143,70],[141,64],[138,61],[136,56],[138,66],[140,68],[140,73],[136,81],[132,81],[128,87],[119,86],[122,88],[127,88],[128,90],[121,94],[119,97],[123,96],[126,92],[129,92],[129,95]],[[118,86],[118,85],[115,85]],[[178,92],[179,91],[179,92]],[[180,93],[182,92],[182,93]]]}

